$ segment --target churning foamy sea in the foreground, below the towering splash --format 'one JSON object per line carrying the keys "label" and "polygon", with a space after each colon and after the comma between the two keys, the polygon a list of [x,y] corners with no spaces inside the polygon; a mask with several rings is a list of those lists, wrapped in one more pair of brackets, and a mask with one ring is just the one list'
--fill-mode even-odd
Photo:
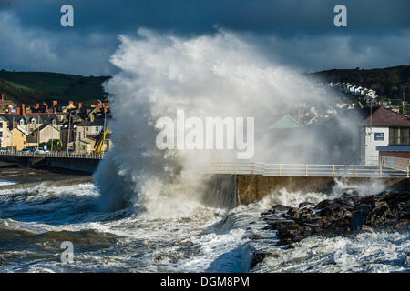
{"label": "churning foamy sea in the foreground, below the towering splash", "polygon": [[[336,186],[338,196],[343,185]],[[319,202],[317,193],[281,191],[231,211],[196,207],[161,218],[135,208],[98,212],[92,184],[0,190],[0,272],[408,272],[408,233],[310,236],[294,249],[274,246],[261,212],[274,204]],[[258,235],[261,239],[252,240]],[[61,244],[74,246],[62,264]],[[251,252],[273,256],[249,269]]]}

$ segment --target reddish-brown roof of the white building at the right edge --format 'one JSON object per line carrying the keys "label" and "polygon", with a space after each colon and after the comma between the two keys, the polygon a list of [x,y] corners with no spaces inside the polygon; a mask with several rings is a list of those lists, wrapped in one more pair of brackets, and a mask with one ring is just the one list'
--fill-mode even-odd
{"label": "reddish-brown roof of the white building at the right edge", "polygon": [[362,122],[364,126],[410,127],[407,116],[395,113],[390,109],[379,107],[371,116]]}

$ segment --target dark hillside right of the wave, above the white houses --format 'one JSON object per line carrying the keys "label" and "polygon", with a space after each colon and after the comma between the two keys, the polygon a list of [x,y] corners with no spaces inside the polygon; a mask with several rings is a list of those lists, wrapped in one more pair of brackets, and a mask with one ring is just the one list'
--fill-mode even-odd
{"label": "dark hillside right of the wave, above the white houses", "polygon": [[373,89],[380,97],[410,100],[410,65],[399,65],[387,68],[365,70],[333,69],[313,73],[326,82],[349,82]]}

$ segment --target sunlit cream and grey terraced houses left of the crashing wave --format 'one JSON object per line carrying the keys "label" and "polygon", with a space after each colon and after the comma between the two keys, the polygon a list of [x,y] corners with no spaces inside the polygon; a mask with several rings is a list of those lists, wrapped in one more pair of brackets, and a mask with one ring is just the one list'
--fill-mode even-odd
{"label": "sunlit cream and grey terraced houses left of the crashing wave", "polygon": [[48,150],[92,153],[107,128],[102,151],[112,146],[109,130],[109,104],[84,107],[72,101],[52,101],[34,105],[0,103],[0,147],[22,150],[26,146],[46,146]]}

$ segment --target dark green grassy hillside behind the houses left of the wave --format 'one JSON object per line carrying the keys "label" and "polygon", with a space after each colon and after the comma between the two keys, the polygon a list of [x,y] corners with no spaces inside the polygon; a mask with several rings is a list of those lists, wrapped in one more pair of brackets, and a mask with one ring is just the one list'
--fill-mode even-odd
{"label": "dark green grassy hillside behind the houses left of the wave", "polygon": [[15,103],[37,100],[95,102],[104,98],[102,84],[110,76],[82,76],[46,72],[0,71],[0,92]]}

